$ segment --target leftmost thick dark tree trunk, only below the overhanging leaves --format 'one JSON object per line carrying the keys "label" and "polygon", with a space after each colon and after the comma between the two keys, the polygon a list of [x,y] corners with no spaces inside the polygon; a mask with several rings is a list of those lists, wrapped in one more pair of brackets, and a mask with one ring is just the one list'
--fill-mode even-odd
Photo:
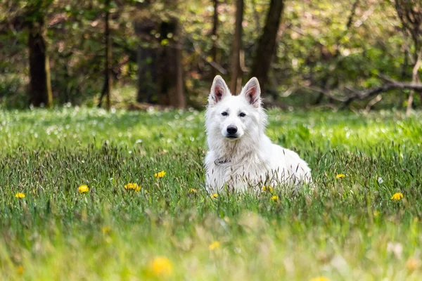
{"label": "leftmost thick dark tree trunk, only below the overhanging leaves", "polygon": [[53,105],[49,55],[44,39],[44,20],[31,22],[28,36],[30,52],[30,103],[34,107]]}

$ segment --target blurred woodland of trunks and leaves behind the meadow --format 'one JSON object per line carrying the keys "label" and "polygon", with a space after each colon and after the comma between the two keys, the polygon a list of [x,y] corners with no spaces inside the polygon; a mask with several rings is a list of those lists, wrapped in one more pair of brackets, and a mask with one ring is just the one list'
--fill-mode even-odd
{"label": "blurred woodland of trunks and leaves behind the meadow", "polygon": [[422,107],[422,0],[1,0],[0,107]]}

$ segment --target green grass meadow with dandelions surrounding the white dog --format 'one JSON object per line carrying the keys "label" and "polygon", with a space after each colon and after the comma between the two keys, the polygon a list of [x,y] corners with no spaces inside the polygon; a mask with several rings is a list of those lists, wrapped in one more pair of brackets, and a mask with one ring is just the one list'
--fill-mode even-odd
{"label": "green grass meadow with dandelions surrounding the white dog", "polygon": [[203,112],[0,111],[1,280],[421,280],[422,113],[268,113],[315,190],[210,197]]}

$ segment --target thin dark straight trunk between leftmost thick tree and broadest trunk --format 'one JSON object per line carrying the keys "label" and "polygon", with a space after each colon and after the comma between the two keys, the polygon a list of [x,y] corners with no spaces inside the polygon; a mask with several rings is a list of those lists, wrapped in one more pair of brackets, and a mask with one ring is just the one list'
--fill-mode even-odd
{"label": "thin dark straight trunk between leftmost thick tree and broadest trunk", "polygon": [[104,38],[106,40],[106,63],[104,65],[104,84],[101,91],[101,97],[98,107],[101,107],[103,96],[106,96],[107,110],[110,110],[110,91],[111,91],[111,39],[110,39],[110,0],[106,0],[106,17],[104,18],[106,25],[104,30]]}

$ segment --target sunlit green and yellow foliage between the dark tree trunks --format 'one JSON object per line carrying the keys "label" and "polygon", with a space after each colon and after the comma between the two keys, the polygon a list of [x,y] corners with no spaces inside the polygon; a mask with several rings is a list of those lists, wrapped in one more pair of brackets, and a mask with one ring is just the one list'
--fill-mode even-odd
{"label": "sunlit green and yellow foliage between the dark tree trunks", "polygon": [[[7,0],[0,4],[1,75],[20,75],[22,80],[27,79],[27,31],[22,18],[25,7],[33,1],[38,0],[20,0],[15,5]],[[103,85],[104,1],[47,2],[44,14],[56,103],[94,104],[93,98],[98,96]],[[159,30],[151,31],[151,39],[138,38],[134,32],[136,20],[177,17],[182,26],[184,84],[188,100],[191,105],[200,106],[215,73],[210,65],[212,1],[170,2],[111,1],[113,80],[118,86],[136,85],[136,71],[142,63],[136,60],[136,48],[169,44],[165,39],[157,42]],[[245,1],[243,48],[247,71],[252,66],[256,41],[268,8],[269,1]],[[217,63],[229,70],[234,1],[220,1],[218,11]],[[404,50],[410,48],[409,51],[414,52],[414,47],[407,41],[393,1],[286,1],[278,49],[266,88],[277,98],[284,91],[307,94],[303,86],[338,91],[377,86],[383,82],[380,74],[406,81],[411,78],[411,64],[407,63],[409,54]],[[246,77],[248,73],[244,74]],[[25,90],[25,87],[19,87],[16,94]],[[3,88],[0,98],[8,99],[14,94]],[[395,92],[395,104],[401,104],[402,96],[406,95],[406,92]],[[311,98],[300,103],[311,103],[315,99],[312,93]]]}

